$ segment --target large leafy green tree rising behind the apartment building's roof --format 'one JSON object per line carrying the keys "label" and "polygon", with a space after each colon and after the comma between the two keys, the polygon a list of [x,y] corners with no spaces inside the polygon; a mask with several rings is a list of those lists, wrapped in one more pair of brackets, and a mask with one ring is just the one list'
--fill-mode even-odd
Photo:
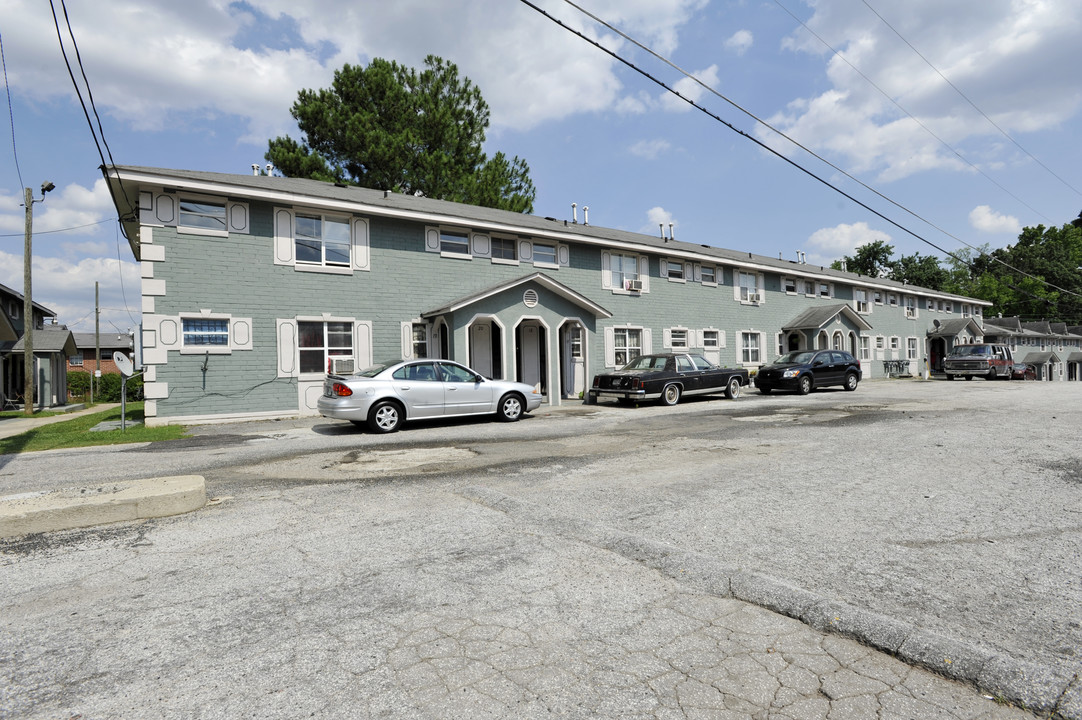
{"label": "large leafy green tree rising behind the apartment building's roof", "polygon": [[298,93],[291,113],[304,142],[279,136],[265,155],[285,175],[533,210],[529,166],[485,155],[488,104],[440,57],[420,73],[382,58],[345,65],[329,89]]}

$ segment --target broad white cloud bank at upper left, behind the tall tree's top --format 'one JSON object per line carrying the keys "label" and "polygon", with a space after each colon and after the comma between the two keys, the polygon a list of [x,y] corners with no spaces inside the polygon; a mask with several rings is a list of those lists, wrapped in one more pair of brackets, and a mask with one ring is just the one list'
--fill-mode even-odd
{"label": "broad white cloud bank at upper left, behind the tall tree's top", "polygon": [[[564,3],[542,4],[605,47],[628,44]],[[602,0],[592,10],[668,54],[679,28],[704,4]],[[289,108],[298,91],[328,87],[343,64],[379,56],[419,67],[430,53],[454,62],[481,89],[493,129],[634,106],[622,97],[615,60],[519,3],[361,0],[333,12],[316,0],[250,0],[243,6],[251,11],[210,0],[113,0],[108,12],[72,8],[98,109],[138,130],[236,116],[248,126],[242,140],[263,144],[293,128]],[[13,87],[39,100],[74,100],[56,62],[48,5],[4,0],[3,14]],[[288,37],[261,38],[264,26]]]}

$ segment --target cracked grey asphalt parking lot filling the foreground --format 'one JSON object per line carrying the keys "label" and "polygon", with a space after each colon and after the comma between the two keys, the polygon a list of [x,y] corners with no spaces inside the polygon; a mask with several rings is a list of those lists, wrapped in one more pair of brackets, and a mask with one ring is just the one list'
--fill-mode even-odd
{"label": "cracked grey asphalt parking lot filling the foreground", "polygon": [[1080,397],[884,381],[4,457],[5,494],[183,469],[216,500],[0,545],[0,716],[1029,717],[564,521],[1078,672]]}

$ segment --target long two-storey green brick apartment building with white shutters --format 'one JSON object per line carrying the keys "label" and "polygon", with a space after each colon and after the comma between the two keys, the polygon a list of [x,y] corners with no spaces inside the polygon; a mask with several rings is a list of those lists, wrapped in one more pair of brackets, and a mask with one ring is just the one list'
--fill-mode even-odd
{"label": "long two-storey green brick apartment building with white shutters", "polygon": [[456,359],[552,405],[661,350],[755,371],[832,348],[866,378],[920,376],[979,338],[990,305],[585,215],[266,175],[106,179],[142,266],[148,424],[314,415],[328,369],[392,357]]}

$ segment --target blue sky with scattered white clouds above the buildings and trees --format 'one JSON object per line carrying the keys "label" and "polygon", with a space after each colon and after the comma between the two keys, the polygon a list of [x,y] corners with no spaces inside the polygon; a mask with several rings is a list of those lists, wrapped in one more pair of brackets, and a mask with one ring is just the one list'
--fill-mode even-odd
{"label": "blue sky with scattered white clouds above the buildings and trees", "polygon": [[[572,4],[537,4],[941,248],[1002,247],[1082,210],[1078,0],[578,0],[934,226]],[[289,115],[299,90],[329,86],[345,63],[420,66],[433,53],[480,87],[487,149],[527,160],[536,214],[570,218],[577,202],[594,225],[673,223],[681,240],[815,264],[876,239],[938,254],[518,0],[67,5],[119,165],[248,173],[269,138],[301,139]],[[53,182],[35,205],[34,298],[92,331],[96,282],[103,331],[126,331],[138,323],[138,270],[48,3],[0,0],[0,284],[23,287],[22,187],[37,198]]]}

